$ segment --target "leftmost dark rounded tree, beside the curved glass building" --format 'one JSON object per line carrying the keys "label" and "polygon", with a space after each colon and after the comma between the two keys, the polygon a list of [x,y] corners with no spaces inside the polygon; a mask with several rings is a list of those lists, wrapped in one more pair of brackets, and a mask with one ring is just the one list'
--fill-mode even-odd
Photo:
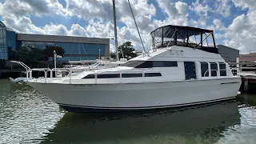
{"label": "leftmost dark rounded tree, beside the curved glass building", "polygon": [[17,50],[18,61],[26,63],[28,66],[37,66],[43,60],[42,50],[32,45],[23,44]]}

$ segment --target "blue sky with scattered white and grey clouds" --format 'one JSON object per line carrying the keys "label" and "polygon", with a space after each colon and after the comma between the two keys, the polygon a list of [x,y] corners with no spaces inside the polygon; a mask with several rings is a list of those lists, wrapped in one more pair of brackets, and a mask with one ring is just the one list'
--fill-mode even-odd
{"label": "blue sky with scattered white and grey clouds", "polygon": [[[130,0],[146,50],[165,25],[214,30],[216,44],[256,51],[256,0]],[[116,0],[118,45],[142,50],[127,0]],[[18,33],[114,38],[112,0],[0,0],[0,20]],[[114,40],[110,39],[110,50]]]}

